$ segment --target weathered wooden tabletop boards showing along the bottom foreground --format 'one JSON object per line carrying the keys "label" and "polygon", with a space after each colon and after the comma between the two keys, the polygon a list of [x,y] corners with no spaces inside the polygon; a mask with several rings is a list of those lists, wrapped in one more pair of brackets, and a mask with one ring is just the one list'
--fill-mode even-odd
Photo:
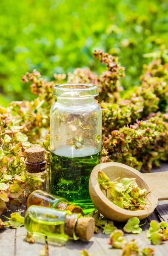
{"label": "weathered wooden tabletop boards showing along the bottom foreground", "polygon": [[[142,226],[142,229],[143,229],[142,234],[140,234],[140,235],[125,234],[125,236],[128,238],[128,240],[130,241],[131,239],[138,239],[138,244],[141,247],[142,246],[143,247],[144,246],[152,247],[152,245],[150,244],[150,241],[148,241],[148,239],[146,239],[146,237],[145,237],[145,233],[149,227],[149,221],[151,221],[151,219],[156,219],[157,221],[159,221],[159,217],[157,216],[157,211],[155,213],[153,213],[152,215],[150,215],[147,219],[147,223],[144,226]],[[143,221],[141,221],[141,223],[143,223]],[[123,229],[122,224],[116,223],[115,225],[118,228]],[[1,230],[1,233],[2,233],[2,231],[3,230]],[[6,242],[5,243],[3,242],[3,244],[6,244],[6,250],[2,250],[3,254],[1,254],[1,255],[2,256],[3,255],[4,256],[14,255],[14,233],[16,231],[12,230],[12,229],[8,229],[4,232],[7,234]],[[10,235],[8,235],[9,232],[10,232]],[[11,235],[11,232],[13,232],[13,235]],[[39,255],[39,250],[44,247],[45,241],[39,241],[38,240],[39,238],[36,238],[37,242],[35,244],[29,244],[24,241],[24,236],[20,236],[23,234],[26,234],[26,230],[24,227],[17,229],[16,254],[15,255],[17,255],[17,256],[23,255],[23,252],[24,252],[25,256],[30,255],[31,252],[33,252],[34,255]],[[13,247],[10,246],[10,248],[9,248],[9,246],[7,246],[7,244],[9,245],[9,242],[10,242],[10,245],[12,245],[12,242],[11,242],[12,238],[13,238],[13,241],[12,241]],[[3,239],[4,239],[4,237],[3,237]],[[89,242],[69,240],[65,243],[65,246],[63,246],[61,243],[59,244],[58,241],[56,241],[56,244],[54,245],[54,241],[52,241],[52,239],[48,239],[49,255],[54,256],[57,251],[57,256],[71,256],[71,255],[79,256],[80,250],[82,250],[83,248],[87,249],[91,254],[94,253],[94,255],[97,255],[97,256],[102,256],[102,255],[108,256],[108,255],[111,255],[111,253],[113,253],[114,256],[121,255],[121,250],[110,249],[111,247],[108,245],[108,239],[109,239],[109,235],[105,235],[101,231],[99,234],[94,235],[94,237]],[[165,242],[164,244],[162,244],[162,246],[154,246],[154,248],[157,253],[155,255],[157,255],[157,256],[164,255],[165,251],[168,250],[168,243]]]}

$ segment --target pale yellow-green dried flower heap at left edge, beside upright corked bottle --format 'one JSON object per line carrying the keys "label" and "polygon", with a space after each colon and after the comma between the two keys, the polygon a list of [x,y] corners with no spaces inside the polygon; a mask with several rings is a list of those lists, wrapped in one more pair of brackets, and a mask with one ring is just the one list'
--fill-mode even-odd
{"label": "pale yellow-green dried flower heap at left edge, beside upright corked bottle", "polygon": [[24,148],[28,137],[12,113],[0,108],[0,214],[7,204],[21,205],[24,197]]}

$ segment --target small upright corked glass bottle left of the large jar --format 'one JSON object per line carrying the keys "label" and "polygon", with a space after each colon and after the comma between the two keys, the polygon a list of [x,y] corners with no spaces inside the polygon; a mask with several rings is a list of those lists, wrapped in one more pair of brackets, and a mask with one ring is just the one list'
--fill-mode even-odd
{"label": "small upright corked glass bottle left of the large jar", "polygon": [[32,147],[25,150],[26,161],[26,199],[34,190],[49,192],[48,172],[46,171],[45,149]]}

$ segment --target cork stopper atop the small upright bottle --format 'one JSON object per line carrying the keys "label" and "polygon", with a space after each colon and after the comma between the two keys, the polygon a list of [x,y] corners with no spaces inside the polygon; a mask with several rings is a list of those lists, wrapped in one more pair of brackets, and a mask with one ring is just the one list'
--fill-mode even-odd
{"label": "cork stopper atop the small upright bottle", "polygon": [[25,150],[28,163],[40,163],[45,161],[45,149],[40,147],[27,148]]}

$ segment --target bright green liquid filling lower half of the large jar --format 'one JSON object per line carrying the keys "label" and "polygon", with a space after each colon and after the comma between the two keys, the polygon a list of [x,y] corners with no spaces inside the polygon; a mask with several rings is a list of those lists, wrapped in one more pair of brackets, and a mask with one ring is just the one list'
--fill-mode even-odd
{"label": "bright green liquid filling lower half of the large jar", "polygon": [[75,150],[65,145],[51,151],[51,193],[82,207],[85,214],[91,212],[94,205],[88,183],[91,171],[100,163],[101,152],[92,147]]}

